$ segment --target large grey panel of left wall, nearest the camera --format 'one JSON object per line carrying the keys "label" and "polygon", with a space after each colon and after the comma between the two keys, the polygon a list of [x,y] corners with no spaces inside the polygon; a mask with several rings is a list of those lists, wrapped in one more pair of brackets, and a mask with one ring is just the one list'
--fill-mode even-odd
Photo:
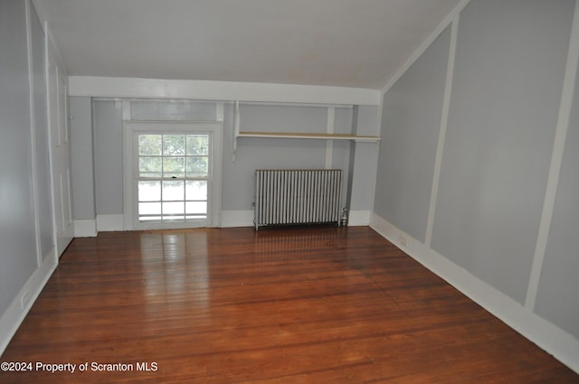
{"label": "large grey panel of left wall, nearest the camera", "polygon": [[0,2],[0,314],[37,267],[24,1]]}

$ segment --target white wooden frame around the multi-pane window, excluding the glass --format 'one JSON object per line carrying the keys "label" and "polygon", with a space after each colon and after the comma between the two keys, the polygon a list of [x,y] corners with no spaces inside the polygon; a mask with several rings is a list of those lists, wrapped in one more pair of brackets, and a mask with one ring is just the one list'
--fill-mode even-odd
{"label": "white wooden frame around the multi-pane window, excluding the glass", "polygon": [[[192,221],[158,222],[138,220],[138,143],[140,134],[203,134],[212,136],[209,148],[211,174],[207,190],[207,220],[196,223]],[[124,121],[124,224],[123,228],[131,229],[182,229],[221,226],[222,169],[223,169],[223,122],[221,121]]]}

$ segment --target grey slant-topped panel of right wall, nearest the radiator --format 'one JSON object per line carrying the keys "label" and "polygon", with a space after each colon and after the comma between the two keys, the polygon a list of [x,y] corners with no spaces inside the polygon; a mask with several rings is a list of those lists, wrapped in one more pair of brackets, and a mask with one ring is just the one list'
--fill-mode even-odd
{"label": "grey slant-topped panel of right wall, nearest the radiator", "polygon": [[375,212],[424,241],[441,127],[447,28],[384,95]]}

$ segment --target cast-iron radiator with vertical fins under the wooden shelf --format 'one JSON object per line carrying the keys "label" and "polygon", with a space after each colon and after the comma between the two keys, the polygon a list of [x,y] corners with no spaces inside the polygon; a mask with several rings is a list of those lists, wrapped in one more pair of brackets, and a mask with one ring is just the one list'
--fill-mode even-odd
{"label": "cast-iron radiator with vertical fins under the wooden shelf", "polygon": [[342,170],[255,171],[255,229],[282,224],[340,224]]}

